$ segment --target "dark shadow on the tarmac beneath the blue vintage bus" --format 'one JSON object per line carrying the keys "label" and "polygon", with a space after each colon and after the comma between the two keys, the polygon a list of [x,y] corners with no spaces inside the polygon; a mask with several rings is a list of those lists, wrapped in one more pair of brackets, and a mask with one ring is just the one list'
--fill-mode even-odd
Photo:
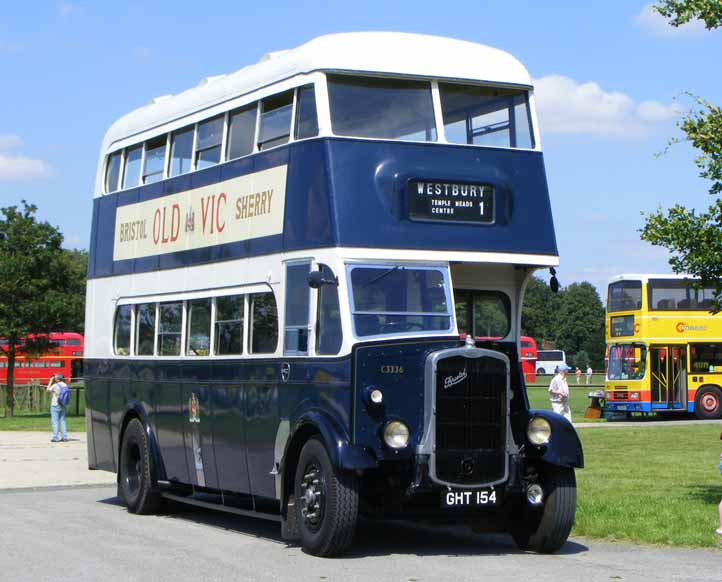
{"label": "dark shadow on the tarmac beneath the blue vintage bus", "polygon": [[[99,503],[124,507],[117,497],[99,500]],[[219,528],[239,535],[267,540],[286,547],[297,547],[281,538],[277,522],[253,517],[242,517],[172,502],[163,517],[192,522],[206,527]],[[588,551],[585,545],[569,541],[557,552],[573,555]],[[361,519],[351,550],[345,559],[369,556],[412,554],[417,556],[503,556],[521,555],[514,540],[506,534],[474,534],[468,527],[413,524],[402,521],[371,521]]]}

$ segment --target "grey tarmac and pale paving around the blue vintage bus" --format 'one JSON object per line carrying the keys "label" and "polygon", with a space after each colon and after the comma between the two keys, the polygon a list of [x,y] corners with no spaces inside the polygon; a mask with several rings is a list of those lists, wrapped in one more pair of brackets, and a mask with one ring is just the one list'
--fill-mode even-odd
{"label": "grey tarmac and pale paving around the blue vintage bus", "polygon": [[722,549],[575,538],[541,556],[520,552],[506,535],[399,522],[362,522],[348,555],[316,558],[283,542],[273,522],[175,504],[158,516],[128,513],[115,475],[87,469],[82,433],[55,444],[46,433],[0,432],[0,507],[3,582],[722,582]]}

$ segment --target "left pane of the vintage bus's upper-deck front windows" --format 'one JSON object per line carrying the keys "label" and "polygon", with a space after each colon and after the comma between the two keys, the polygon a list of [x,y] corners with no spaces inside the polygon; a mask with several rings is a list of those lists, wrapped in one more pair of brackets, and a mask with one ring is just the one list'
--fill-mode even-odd
{"label": "left pane of the vintage bus's upper-deck front windows", "polygon": [[428,82],[329,75],[328,97],[336,135],[436,141]]}

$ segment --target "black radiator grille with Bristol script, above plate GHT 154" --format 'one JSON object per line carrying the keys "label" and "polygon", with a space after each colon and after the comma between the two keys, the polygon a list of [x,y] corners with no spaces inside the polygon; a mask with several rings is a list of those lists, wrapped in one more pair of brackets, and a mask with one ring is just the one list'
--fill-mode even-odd
{"label": "black radiator grille with Bristol script, above plate GHT 154", "polygon": [[479,485],[506,471],[506,374],[503,360],[453,356],[436,368],[436,475]]}

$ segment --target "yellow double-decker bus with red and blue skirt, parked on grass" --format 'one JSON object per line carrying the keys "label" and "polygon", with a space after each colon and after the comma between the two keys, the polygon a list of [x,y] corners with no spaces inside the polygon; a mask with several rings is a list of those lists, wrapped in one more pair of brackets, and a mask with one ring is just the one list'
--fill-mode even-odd
{"label": "yellow double-decker bus with red and blue skirt, parked on grass", "polygon": [[619,275],[607,289],[605,410],[722,418],[722,313],[682,275]]}

